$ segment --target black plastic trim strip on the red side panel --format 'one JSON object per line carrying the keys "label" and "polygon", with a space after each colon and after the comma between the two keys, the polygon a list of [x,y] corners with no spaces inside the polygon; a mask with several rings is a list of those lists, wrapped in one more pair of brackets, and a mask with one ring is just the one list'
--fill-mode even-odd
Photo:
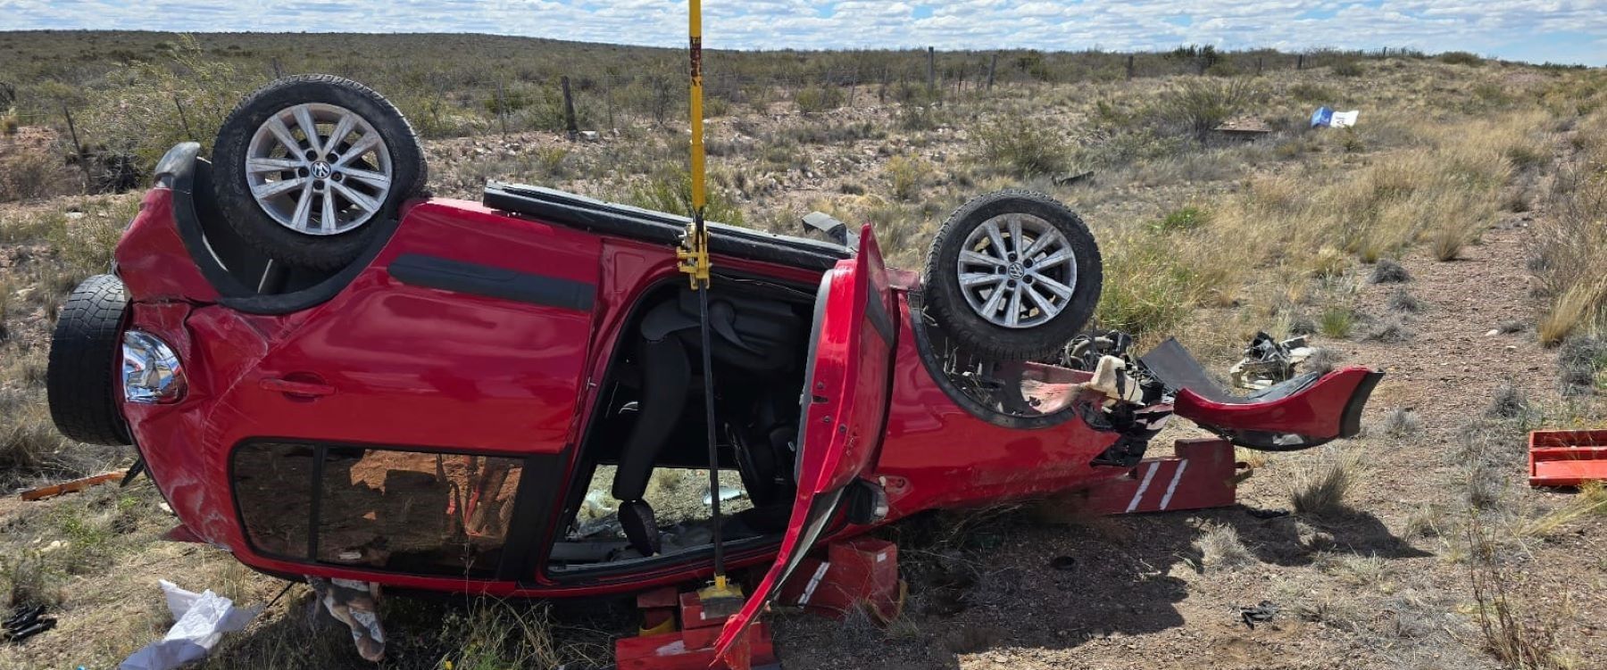
{"label": "black plastic trim strip on the red side panel", "polygon": [[590,312],[596,284],[439,255],[402,254],[387,267],[403,284]]}

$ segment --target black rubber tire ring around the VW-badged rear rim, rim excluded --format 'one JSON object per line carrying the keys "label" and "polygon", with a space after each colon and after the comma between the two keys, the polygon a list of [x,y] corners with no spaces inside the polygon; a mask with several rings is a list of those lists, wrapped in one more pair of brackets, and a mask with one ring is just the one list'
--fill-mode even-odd
{"label": "black rubber tire ring around the VW-badged rear rim, rim excluded", "polygon": [[[391,193],[368,222],[341,235],[318,236],[289,230],[273,220],[246,185],[246,149],[268,114],[304,103],[339,104],[366,119],[391,151]],[[395,217],[397,207],[419,193],[429,177],[418,135],[382,95],[333,74],[297,74],[275,80],[239,101],[223,121],[212,145],[212,190],[228,225],[247,244],[273,260],[310,268],[339,270],[357,259],[374,238],[376,223]]]}

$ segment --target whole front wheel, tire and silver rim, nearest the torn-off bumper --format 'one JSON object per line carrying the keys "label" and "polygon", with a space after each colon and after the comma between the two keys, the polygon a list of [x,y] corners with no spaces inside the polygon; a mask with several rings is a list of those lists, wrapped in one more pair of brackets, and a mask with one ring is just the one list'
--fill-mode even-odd
{"label": "whole front wheel, tire and silver rim, nearest the torn-off bumper", "polygon": [[1004,190],[974,198],[937,230],[926,308],[971,353],[1045,358],[1088,323],[1102,281],[1099,246],[1075,212],[1041,193]]}

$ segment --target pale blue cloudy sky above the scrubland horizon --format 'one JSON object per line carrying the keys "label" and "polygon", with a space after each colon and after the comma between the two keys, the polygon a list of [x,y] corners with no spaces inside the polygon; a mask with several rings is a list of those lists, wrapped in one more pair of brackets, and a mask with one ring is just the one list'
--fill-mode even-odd
{"label": "pale blue cloudy sky above the scrubland horizon", "polygon": [[[1607,64],[1607,0],[707,0],[714,48],[1411,47]],[[3,29],[492,32],[685,43],[665,0],[0,0]]]}

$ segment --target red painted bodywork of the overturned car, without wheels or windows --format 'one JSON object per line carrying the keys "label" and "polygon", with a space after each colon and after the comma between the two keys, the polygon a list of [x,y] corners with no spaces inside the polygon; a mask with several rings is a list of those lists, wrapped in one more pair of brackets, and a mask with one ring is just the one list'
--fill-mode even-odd
{"label": "red painted bodywork of the overturned car, without wheels or windows", "polygon": [[[153,479],[183,524],[178,535],[268,574],[410,590],[579,596],[710,575],[707,551],[625,570],[548,570],[546,549],[585,485],[575,472],[598,416],[595,389],[619,355],[624,325],[649,289],[685,281],[672,244],[477,202],[419,199],[402,207],[389,239],[350,268],[337,291],[305,307],[265,307],[270,297],[231,299],[198,260],[186,227],[206,215],[194,194],[204,185],[194,175],[194,149],[180,149],[164,159],[157,186],[116,251],[132,300],[129,328],[167,342],[186,376],[177,402],[122,403]],[[884,267],[869,227],[858,252],[844,252],[829,268],[755,260],[718,246],[714,265],[730,276],[820,286],[794,513],[779,538],[733,545],[728,554],[734,567],[771,564],[763,591],[821,537],[934,508],[1133,476],[1131,468],[1093,464],[1118,435],[1075,411],[1011,421],[963,406],[922,352],[918,278]],[[543,281],[521,288],[524,278]],[[1040,365],[1028,373],[1062,386],[1088,379]],[[1347,368],[1282,398],[1237,405],[1181,390],[1176,411],[1229,432],[1284,431],[1321,442],[1347,432],[1372,382],[1376,373]],[[1085,402],[1093,400],[1067,398]],[[522,463],[511,524],[521,530],[508,537],[493,569],[461,575],[339,564],[317,559],[312,548],[299,558],[264,551],[247,519],[301,513],[291,503],[264,509],[273,505],[244,501],[235,490],[233,453],[264,439]],[[317,525],[318,500],[333,493],[317,476],[310,480],[309,524]],[[885,501],[868,524],[839,513],[853,482]]]}

